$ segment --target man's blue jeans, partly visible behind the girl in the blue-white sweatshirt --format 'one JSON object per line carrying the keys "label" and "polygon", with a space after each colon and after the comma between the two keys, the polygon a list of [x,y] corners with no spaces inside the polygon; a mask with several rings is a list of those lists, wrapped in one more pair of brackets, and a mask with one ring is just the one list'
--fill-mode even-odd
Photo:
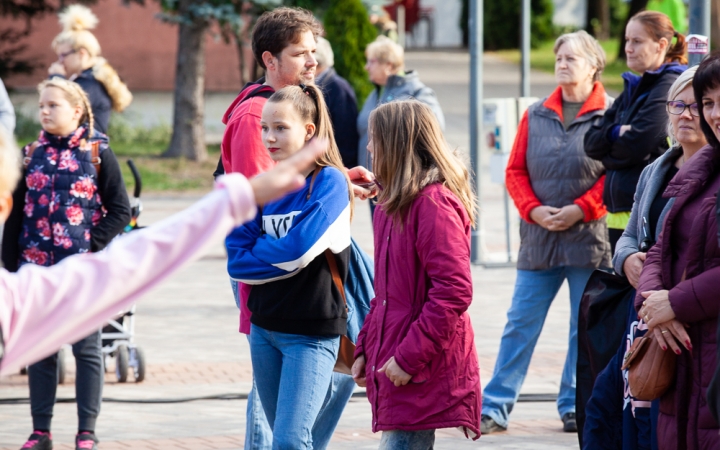
{"label": "man's blue jeans, partly visible behind the girl in the blue-white sweatshirt", "polygon": [[[354,390],[355,380],[351,376],[333,372],[330,388],[325,395],[325,401],[312,429],[315,450],[324,450],[330,444],[340,416]],[[272,448],[272,429],[265,417],[254,375],[252,390],[248,395],[244,448],[246,450],[270,450]]]}

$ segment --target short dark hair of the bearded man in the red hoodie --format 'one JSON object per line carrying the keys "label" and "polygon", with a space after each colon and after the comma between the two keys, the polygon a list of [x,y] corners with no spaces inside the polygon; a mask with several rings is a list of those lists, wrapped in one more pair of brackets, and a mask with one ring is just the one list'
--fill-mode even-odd
{"label": "short dark hair of the bearded man in the red hoodie", "polygon": [[312,32],[316,40],[323,33],[322,25],[307,9],[280,7],[263,13],[252,35],[255,60],[267,69],[263,53],[277,57],[288,45],[300,42],[300,35],[306,31]]}

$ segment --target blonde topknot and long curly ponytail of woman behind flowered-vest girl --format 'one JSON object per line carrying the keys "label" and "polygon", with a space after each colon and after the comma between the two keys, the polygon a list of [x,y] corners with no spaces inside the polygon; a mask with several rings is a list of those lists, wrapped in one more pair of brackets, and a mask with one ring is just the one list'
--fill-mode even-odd
{"label": "blonde topknot and long curly ponytail of woman behind flowered-vest girl", "polygon": [[73,50],[84,48],[94,64],[93,76],[105,87],[113,109],[122,112],[132,102],[132,93],[120,80],[120,75],[112,66],[100,56],[100,43],[90,30],[98,24],[98,18],[90,8],[83,5],[70,5],[60,14],[60,25],[63,31],[52,41],[53,51],[60,45],[69,45]]}

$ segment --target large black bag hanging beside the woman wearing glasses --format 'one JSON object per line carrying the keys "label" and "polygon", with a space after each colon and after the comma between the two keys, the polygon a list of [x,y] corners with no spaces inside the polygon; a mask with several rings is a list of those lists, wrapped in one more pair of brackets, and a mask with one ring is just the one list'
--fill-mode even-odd
{"label": "large black bag hanging beside the woman wearing glasses", "polygon": [[635,288],[625,277],[595,270],[580,300],[575,416],[582,448],[585,405],[595,379],[615,356],[624,337]]}

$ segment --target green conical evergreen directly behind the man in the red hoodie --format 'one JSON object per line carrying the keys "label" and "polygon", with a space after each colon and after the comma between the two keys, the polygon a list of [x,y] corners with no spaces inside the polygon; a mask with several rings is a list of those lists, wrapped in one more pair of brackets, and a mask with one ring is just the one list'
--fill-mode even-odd
{"label": "green conical evergreen directly behind the man in the red hoodie", "polygon": [[335,70],[348,80],[362,104],[373,89],[364,69],[365,47],[377,36],[367,10],[361,0],[330,0],[324,26],[335,55]]}

